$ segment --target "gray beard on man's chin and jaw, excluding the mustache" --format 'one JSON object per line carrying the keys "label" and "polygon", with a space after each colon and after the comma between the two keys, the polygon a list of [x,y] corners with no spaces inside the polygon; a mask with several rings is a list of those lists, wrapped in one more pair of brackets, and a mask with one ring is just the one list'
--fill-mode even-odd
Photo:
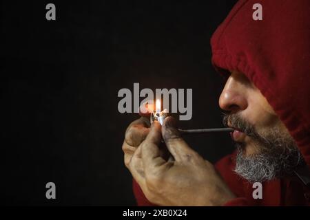
{"label": "gray beard on man's chin and jaw, excluding the mustache", "polygon": [[304,164],[304,159],[297,146],[290,145],[291,142],[279,144],[263,148],[259,154],[245,156],[242,144],[237,143],[234,171],[252,183],[291,175],[297,166]]}

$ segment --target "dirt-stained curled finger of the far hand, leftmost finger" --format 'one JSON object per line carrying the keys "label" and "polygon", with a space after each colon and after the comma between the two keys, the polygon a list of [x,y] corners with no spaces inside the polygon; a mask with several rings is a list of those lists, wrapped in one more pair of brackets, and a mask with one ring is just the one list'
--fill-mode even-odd
{"label": "dirt-stained curled finger of the far hand, leftmost finger", "polygon": [[125,142],[130,146],[139,146],[149,133],[149,118],[141,117],[128,126],[125,132]]}

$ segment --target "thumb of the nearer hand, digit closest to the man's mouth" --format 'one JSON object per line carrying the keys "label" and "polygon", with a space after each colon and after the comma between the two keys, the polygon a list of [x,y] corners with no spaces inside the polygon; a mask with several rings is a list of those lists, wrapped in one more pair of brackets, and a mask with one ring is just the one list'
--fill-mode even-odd
{"label": "thumb of the nearer hand, digit closest to the man's mouth", "polygon": [[167,117],[162,127],[163,140],[176,161],[188,161],[189,157],[196,155],[196,151],[188,146],[188,144],[180,136],[180,132],[176,129],[176,120]]}

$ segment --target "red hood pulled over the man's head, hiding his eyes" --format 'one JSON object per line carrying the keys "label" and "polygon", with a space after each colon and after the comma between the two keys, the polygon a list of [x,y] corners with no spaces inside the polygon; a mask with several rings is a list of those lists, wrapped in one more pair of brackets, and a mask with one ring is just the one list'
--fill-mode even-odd
{"label": "red hood pulled over the man's head, hiding his eyes", "polygon": [[[262,5],[254,21],[253,5]],[[211,38],[212,63],[251,80],[310,164],[310,1],[241,0]]]}

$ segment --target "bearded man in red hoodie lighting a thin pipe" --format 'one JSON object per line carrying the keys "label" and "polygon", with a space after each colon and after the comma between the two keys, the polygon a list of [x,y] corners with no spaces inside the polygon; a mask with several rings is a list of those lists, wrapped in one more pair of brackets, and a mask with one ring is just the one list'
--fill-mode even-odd
{"label": "bearded man in red hoodie lighting a thin pipe", "polygon": [[[123,144],[138,205],[309,206],[310,1],[259,1],[258,21],[255,3],[238,1],[211,38],[236,151],[213,165],[180,137],[173,118],[149,127],[141,117]],[[252,195],[257,181],[262,199]]]}

